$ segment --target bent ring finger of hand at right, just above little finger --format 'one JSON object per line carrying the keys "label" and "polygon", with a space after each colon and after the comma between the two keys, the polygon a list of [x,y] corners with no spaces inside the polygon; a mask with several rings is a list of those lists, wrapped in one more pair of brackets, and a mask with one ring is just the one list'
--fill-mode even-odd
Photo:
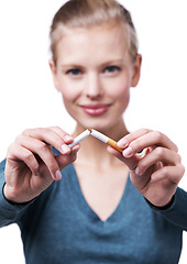
{"label": "bent ring finger of hand at right, just above little finger", "polygon": [[158,162],[166,165],[177,165],[180,162],[180,156],[176,152],[165,147],[156,147],[140,160],[135,173],[142,175],[148,167]]}

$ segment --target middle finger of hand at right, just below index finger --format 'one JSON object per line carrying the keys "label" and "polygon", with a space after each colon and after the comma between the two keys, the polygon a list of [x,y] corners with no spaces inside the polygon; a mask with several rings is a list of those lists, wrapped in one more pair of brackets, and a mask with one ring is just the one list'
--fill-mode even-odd
{"label": "middle finger of hand at right, just below index finger", "polygon": [[134,139],[123,151],[125,157],[130,157],[141,150],[150,146],[164,146],[168,150],[177,152],[177,146],[163,133],[151,131],[138,139]]}

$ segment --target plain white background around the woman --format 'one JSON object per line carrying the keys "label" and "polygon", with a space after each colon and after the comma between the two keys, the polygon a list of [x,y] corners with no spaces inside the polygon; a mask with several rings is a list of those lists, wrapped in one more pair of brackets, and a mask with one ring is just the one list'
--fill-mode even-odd
{"label": "plain white background around the woman", "polygon": [[[74,121],[64,110],[48,68],[48,29],[63,0],[0,1],[0,160],[26,128]],[[132,88],[124,116],[130,131],[150,128],[166,133],[187,165],[187,6],[185,0],[124,0],[143,55],[142,77]],[[91,56],[90,56],[91,59]],[[187,178],[180,182],[187,190]],[[164,249],[163,249],[164,250]],[[187,235],[180,263],[187,256]],[[0,230],[0,263],[23,264],[16,226]]]}

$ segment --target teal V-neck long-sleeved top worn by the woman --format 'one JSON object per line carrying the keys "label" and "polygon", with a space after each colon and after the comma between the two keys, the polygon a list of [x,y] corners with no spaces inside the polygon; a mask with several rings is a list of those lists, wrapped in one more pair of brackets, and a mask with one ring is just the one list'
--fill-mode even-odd
{"label": "teal V-neck long-sleeved top worn by the woman", "polygon": [[148,204],[128,179],[116,211],[101,221],[86,202],[73,165],[34,200],[14,205],[3,196],[0,226],[18,223],[26,264],[176,264],[187,230],[187,194],[177,188],[167,208]]}

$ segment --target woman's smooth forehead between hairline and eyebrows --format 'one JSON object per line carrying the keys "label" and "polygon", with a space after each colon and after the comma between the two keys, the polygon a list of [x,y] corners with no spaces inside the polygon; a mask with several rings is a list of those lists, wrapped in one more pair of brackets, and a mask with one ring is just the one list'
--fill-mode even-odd
{"label": "woman's smooth forehead between hairline and eyebrows", "polygon": [[121,58],[128,52],[125,28],[121,24],[66,29],[56,46],[57,61]]}

